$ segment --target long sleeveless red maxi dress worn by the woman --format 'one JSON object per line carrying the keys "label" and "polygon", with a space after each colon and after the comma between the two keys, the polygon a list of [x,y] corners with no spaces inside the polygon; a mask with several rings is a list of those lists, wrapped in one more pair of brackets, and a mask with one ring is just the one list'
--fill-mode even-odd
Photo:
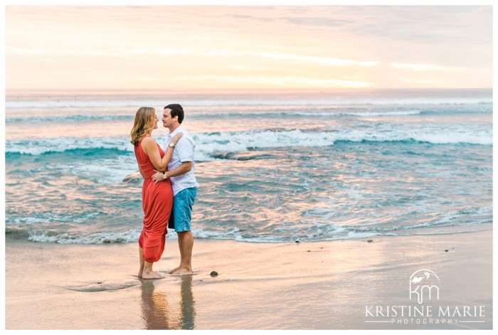
{"label": "long sleeveless red maxi dress worn by the woman", "polygon": [[[173,206],[173,191],[171,181],[166,179],[154,185],[152,175],[156,169],[149,156],[142,149],[142,139],[135,149],[135,157],[144,174],[142,186],[142,208],[144,209],[144,228],[138,239],[140,248],[144,250],[146,262],[157,262],[164,251],[166,243],[167,225],[171,208]],[[157,145],[159,154],[164,156],[164,151]]]}

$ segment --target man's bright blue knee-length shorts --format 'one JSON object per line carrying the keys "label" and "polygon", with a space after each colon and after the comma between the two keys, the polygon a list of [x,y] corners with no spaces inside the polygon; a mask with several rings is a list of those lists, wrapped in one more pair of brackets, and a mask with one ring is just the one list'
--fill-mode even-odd
{"label": "man's bright blue knee-length shorts", "polygon": [[173,209],[169,216],[168,228],[174,228],[176,233],[189,231],[192,216],[192,206],[196,200],[197,188],[185,188],[173,197]]}

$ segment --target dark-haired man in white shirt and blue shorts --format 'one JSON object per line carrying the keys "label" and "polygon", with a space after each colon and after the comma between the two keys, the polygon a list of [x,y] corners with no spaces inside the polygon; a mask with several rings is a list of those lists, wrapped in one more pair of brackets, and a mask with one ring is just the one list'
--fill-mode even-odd
{"label": "dark-haired man in white shirt and blue shorts", "polygon": [[[168,164],[168,171],[156,172],[152,180],[159,182],[171,179],[173,188],[173,210],[169,218],[169,228],[174,224],[174,229],[178,234],[178,244],[180,248],[180,265],[169,273],[174,276],[193,275],[192,271],[192,248],[194,247],[194,236],[192,235],[190,222],[192,206],[196,198],[198,183],[194,176],[194,149],[196,144],[189,132],[181,127],[184,120],[184,109],[179,104],[171,104],[164,107],[162,122],[164,127],[169,129],[169,137],[164,145],[174,147],[173,156]],[[171,138],[179,132],[183,137],[174,146]]]}

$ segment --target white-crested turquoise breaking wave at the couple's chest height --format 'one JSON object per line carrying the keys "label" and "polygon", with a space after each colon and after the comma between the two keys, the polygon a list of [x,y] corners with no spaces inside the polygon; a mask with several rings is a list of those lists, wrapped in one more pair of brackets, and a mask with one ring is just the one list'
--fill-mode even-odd
{"label": "white-crested turquoise breaking wave at the couple's chest height", "polygon": [[[335,131],[263,130],[248,132],[214,132],[194,134],[196,160],[213,159],[223,152],[268,149],[276,147],[327,147],[336,142],[422,142],[431,144],[492,145],[492,129],[400,129],[396,125],[385,129],[345,129]],[[159,140],[160,142],[160,140]],[[56,152],[92,155],[102,151],[132,154],[128,138],[72,138],[24,139],[6,141],[7,156],[12,154],[43,155]],[[105,153],[105,152],[104,152]]]}

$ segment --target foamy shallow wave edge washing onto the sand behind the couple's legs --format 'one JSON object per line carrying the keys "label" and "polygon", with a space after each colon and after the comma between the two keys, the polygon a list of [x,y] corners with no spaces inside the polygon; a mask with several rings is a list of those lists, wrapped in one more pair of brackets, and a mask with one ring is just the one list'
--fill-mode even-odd
{"label": "foamy shallow wave edge washing onto the sand behind the couple's legs", "polygon": [[[462,216],[464,217],[462,220]],[[492,223],[492,208],[473,208],[470,211],[449,213],[445,218],[415,225],[364,225],[337,226],[331,224],[312,225],[301,230],[299,228],[277,228],[271,233],[258,231],[248,232],[246,229],[210,226],[194,228],[192,233],[196,239],[235,240],[248,243],[293,243],[318,242],[334,240],[359,240],[375,236],[401,235],[438,235],[466,233],[476,231],[482,225]],[[435,229],[438,228],[438,229]],[[36,229],[36,228],[34,228]],[[280,231],[279,231],[280,230]],[[105,244],[136,243],[141,230],[130,229],[122,232],[99,232],[90,234],[30,230],[6,226],[6,238],[11,240],[29,240],[40,243],[60,244]],[[173,230],[166,235],[168,239],[177,238]]]}

